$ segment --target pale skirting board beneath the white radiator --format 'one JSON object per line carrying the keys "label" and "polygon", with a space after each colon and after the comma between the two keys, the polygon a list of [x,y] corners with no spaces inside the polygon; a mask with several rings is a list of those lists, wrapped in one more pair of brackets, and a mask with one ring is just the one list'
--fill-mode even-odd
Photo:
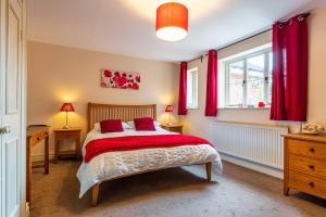
{"label": "pale skirting board beneath the white radiator", "polygon": [[228,154],[225,154],[225,153],[220,152],[220,154],[221,154],[222,159],[224,159],[226,162],[230,162],[233,164],[243,166],[246,168],[249,168],[249,169],[252,169],[252,170],[255,170],[255,171],[260,171],[262,174],[266,174],[266,175],[279,178],[279,179],[284,179],[283,170],[275,169],[275,168],[272,168],[272,167],[267,167],[265,165],[256,164],[256,163],[253,163],[253,162],[250,162],[250,161],[247,161],[247,159],[242,159],[242,158],[239,158],[239,157],[235,157],[235,156],[231,156],[231,155],[228,155]]}

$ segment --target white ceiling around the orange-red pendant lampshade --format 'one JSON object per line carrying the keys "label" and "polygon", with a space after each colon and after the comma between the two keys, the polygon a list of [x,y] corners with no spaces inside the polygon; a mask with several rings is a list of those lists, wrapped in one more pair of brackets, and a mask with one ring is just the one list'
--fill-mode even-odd
{"label": "white ceiling around the orange-red pendant lampshade", "polygon": [[179,0],[189,9],[188,37],[155,36],[155,10],[167,0],[28,0],[29,40],[160,61],[188,61],[209,49],[326,5],[325,0]]}

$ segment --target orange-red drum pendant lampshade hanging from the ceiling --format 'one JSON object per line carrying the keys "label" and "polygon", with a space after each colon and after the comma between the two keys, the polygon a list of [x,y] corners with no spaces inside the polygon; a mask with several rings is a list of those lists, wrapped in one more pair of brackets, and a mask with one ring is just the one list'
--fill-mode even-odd
{"label": "orange-red drum pendant lampshade hanging from the ceiling", "polygon": [[184,39],[188,34],[188,9],[180,3],[168,2],[156,10],[156,36],[167,41]]}

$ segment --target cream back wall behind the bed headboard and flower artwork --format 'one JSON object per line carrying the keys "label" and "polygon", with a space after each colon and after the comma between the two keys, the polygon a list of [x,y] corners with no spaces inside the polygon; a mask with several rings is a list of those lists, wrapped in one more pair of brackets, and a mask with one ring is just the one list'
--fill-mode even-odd
{"label": "cream back wall behind the bed headboard and flower artwork", "polygon": [[[100,87],[100,68],[139,72],[139,90]],[[86,129],[88,102],[111,104],[158,105],[158,119],[167,122],[166,104],[176,104],[178,66],[174,63],[142,60],[93,52],[62,46],[28,42],[28,114],[27,123],[62,127],[65,113],[59,112],[63,102],[73,102],[76,113],[70,113],[70,124]],[[174,115],[176,118],[177,116]],[[84,130],[85,135],[85,130]],[[33,155],[41,155],[41,145]],[[50,137],[53,154],[53,135]]]}

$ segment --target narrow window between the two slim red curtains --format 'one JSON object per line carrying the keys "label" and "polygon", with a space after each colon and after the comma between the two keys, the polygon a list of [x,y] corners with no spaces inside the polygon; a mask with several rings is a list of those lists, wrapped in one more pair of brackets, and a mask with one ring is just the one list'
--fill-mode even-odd
{"label": "narrow window between the two slim red curtains", "polygon": [[187,108],[198,108],[198,68],[187,72]]}

